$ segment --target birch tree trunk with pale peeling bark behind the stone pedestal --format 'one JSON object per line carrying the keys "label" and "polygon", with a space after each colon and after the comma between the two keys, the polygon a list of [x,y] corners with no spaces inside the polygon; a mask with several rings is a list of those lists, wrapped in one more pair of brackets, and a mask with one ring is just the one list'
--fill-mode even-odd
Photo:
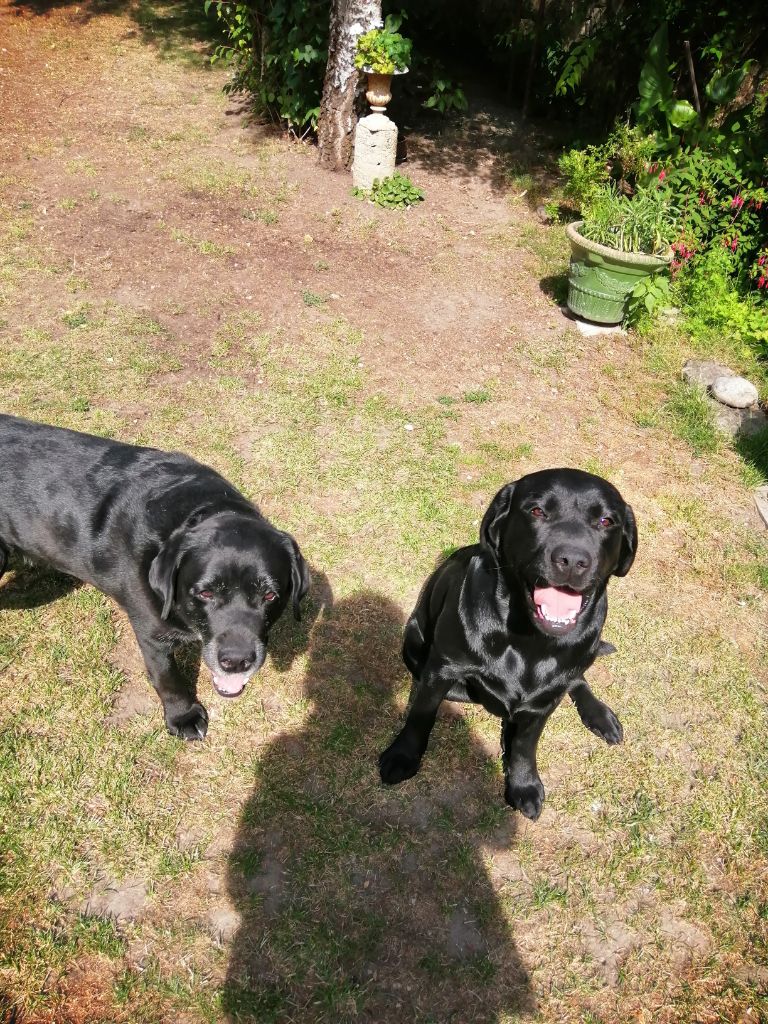
{"label": "birch tree trunk with pale peeling bark behind the stone pedestal", "polygon": [[333,0],[328,65],[317,120],[319,162],[343,171],[352,162],[355,96],[362,76],[354,67],[357,37],[381,24],[381,0]]}

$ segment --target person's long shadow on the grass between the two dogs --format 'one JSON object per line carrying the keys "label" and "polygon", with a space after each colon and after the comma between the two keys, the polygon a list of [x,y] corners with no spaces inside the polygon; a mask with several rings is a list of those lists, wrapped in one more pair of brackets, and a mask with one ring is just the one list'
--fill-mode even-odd
{"label": "person's long shadow on the grass between the two dogs", "polygon": [[379,781],[408,682],[401,633],[385,597],[326,593],[307,716],[265,748],[228,859],[230,1021],[493,1024],[535,1009],[483,863],[515,835],[498,759],[449,711],[422,772]]}

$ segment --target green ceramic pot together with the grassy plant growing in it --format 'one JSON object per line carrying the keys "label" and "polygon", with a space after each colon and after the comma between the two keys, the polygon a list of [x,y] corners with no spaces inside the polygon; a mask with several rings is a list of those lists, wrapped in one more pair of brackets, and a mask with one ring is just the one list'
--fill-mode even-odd
{"label": "green ceramic pot together with the grassy plant growing in it", "polygon": [[590,191],[583,219],[565,228],[570,241],[568,309],[597,324],[620,324],[642,281],[669,266],[679,214],[657,181],[632,195],[614,182]]}

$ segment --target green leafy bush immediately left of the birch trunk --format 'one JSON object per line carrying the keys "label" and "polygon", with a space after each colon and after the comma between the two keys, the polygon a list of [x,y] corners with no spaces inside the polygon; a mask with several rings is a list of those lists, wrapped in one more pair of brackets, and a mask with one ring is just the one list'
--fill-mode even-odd
{"label": "green leafy bush immediately left of the birch trunk", "polygon": [[205,0],[228,42],[212,62],[232,65],[225,92],[249,92],[259,113],[294,132],[314,128],[328,59],[328,8],[311,0],[273,0],[263,7]]}

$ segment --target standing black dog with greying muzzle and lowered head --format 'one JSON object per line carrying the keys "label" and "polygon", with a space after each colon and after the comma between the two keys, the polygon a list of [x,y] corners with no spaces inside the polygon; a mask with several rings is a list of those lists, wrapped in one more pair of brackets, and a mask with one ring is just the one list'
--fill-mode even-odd
{"label": "standing black dog with greying muzzle and lowered head", "polygon": [[237,696],[309,586],[296,541],[209,467],[0,416],[0,575],[14,549],[125,608],[168,731],[184,739],[205,737],[208,714],[173,647],[201,641],[216,690]]}

